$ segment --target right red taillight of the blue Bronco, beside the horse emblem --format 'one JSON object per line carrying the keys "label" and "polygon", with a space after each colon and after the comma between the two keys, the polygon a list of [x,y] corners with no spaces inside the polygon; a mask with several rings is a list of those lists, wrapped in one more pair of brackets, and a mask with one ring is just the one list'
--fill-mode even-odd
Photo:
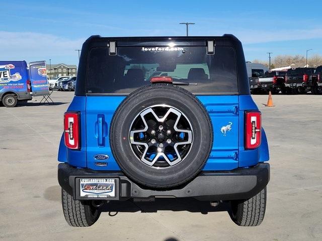
{"label": "right red taillight of the blue Bronco, beside the horse emblem", "polygon": [[255,149],[261,145],[261,112],[247,111],[245,114],[245,149]]}

